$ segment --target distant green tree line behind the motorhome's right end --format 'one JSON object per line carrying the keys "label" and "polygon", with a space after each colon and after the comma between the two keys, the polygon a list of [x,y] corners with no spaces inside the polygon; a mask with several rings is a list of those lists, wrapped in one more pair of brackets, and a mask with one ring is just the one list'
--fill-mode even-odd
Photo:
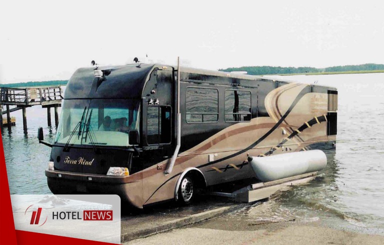
{"label": "distant green tree line behind the motorhome's right end", "polygon": [[291,74],[291,73],[312,73],[329,71],[356,71],[356,70],[384,70],[384,64],[359,64],[331,66],[326,68],[315,67],[282,67],[282,66],[241,66],[219,69],[221,71],[246,71],[249,75],[265,74]]}

